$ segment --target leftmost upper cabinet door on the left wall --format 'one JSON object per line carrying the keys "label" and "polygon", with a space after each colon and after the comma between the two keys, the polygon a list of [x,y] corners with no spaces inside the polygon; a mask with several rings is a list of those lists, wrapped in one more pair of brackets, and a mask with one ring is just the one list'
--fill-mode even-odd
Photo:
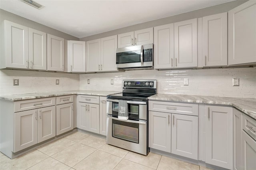
{"label": "leftmost upper cabinet door on the left wall", "polygon": [[28,27],[4,20],[6,67],[28,69]]}

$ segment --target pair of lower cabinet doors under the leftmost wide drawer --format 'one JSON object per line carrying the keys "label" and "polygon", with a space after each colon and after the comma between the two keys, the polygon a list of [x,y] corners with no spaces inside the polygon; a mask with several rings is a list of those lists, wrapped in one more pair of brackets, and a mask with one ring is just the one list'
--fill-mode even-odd
{"label": "pair of lower cabinet doors under the leftmost wide drawer", "polygon": [[55,117],[55,106],[14,113],[14,152],[54,137]]}

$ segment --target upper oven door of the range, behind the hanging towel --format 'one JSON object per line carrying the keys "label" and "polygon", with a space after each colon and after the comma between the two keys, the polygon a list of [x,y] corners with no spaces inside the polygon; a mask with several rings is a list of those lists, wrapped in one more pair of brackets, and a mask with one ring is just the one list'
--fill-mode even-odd
{"label": "upper oven door of the range, behind the hanging towel", "polygon": [[[127,101],[128,117],[147,120],[146,101]],[[118,116],[118,100],[107,99],[107,114]]]}

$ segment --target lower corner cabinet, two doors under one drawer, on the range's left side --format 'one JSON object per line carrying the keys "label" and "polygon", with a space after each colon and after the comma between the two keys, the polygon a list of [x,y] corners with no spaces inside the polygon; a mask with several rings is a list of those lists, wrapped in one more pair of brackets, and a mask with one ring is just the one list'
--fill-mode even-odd
{"label": "lower corner cabinet, two doors under one drawer, on the range's left side", "polygon": [[[78,96],[79,98],[82,95]],[[88,101],[90,96],[88,97]],[[94,101],[92,101],[94,102]],[[99,103],[99,101],[97,101]],[[77,127],[94,133],[100,133],[100,106],[94,103],[78,102],[77,105]]]}

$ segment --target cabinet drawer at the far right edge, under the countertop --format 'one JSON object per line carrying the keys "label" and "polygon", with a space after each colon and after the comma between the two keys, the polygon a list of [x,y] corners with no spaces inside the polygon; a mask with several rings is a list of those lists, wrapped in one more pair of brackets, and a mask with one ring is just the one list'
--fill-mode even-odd
{"label": "cabinet drawer at the far right edge, under the countertop", "polygon": [[243,114],[242,117],[243,130],[256,140],[256,121],[245,114]]}

